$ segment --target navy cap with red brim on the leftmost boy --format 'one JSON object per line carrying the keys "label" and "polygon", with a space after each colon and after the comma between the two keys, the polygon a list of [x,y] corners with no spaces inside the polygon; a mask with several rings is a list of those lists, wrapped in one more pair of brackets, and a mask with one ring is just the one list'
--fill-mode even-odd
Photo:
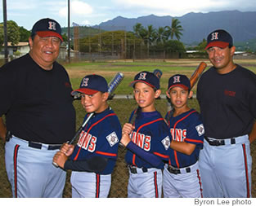
{"label": "navy cap with red brim on the leftmost boy", "polygon": [[108,85],[106,79],[96,74],[83,77],[78,90],[71,92],[71,95],[76,96],[79,93],[83,94],[96,94],[98,91],[103,93],[108,91]]}

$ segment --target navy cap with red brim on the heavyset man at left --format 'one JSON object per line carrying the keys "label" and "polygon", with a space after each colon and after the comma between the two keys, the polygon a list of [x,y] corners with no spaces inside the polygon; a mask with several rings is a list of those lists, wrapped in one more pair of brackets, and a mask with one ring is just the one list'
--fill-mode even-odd
{"label": "navy cap with red brim on the heavyset man at left", "polygon": [[38,20],[32,28],[31,36],[35,34],[38,34],[39,37],[58,37],[63,42],[61,25],[56,20],[49,18]]}

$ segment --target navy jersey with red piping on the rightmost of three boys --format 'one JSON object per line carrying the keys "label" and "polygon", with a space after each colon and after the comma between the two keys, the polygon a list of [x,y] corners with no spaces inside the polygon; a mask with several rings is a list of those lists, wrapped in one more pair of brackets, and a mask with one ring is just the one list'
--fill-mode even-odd
{"label": "navy jersey with red piping on the rightmost of three boys", "polygon": [[168,127],[173,140],[177,142],[188,142],[195,144],[195,150],[191,156],[187,156],[181,152],[170,149],[170,162],[175,168],[184,168],[195,164],[198,160],[200,149],[203,148],[204,143],[204,125],[200,119],[200,114],[191,109],[188,112],[184,112],[179,116],[169,116]]}

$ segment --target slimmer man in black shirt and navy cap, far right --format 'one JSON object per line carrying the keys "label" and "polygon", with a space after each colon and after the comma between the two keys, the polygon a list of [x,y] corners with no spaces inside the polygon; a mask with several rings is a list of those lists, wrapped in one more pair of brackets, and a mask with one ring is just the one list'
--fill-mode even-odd
{"label": "slimmer man in black shirt and navy cap, far right", "polygon": [[234,64],[230,33],[209,34],[206,50],[213,64],[197,87],[204,122],[200,173],[204,197],[251,196],[250,142],[256,138],[256,75]]}

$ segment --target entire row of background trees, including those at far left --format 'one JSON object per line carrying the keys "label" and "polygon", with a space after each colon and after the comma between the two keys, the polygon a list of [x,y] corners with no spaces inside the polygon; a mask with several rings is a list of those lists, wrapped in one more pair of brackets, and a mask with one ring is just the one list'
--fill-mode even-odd
{"label": "entire row of background trees, including those at far left", "polygon": [[[170,25],[165,27],[154,28],[152,24],[143,27],[137,23],[133,26],[132,32],[127,31],[101,31],[93,34],[86,28],[86,35],[79,35],[80,52],[84,53],[101,53],[111,52],[112,55],[123,54],[124,58],[132,58],[134,55],[144,54],[144,57],[149,57],[150,53],[166,52],[184,54],[185,46],[180,42],[182,37],[182,25],[179,20],[173,18]],[[73,28],[74,29],[74,28]],[[92,35],[91,35],[92,34]],[[19,42],[28,42],[30,31],[23,27],[19,27],[15,21],[7,21],[7,41],[11,45],[17,45]],[[63,33],[64,42],[68,41],[66,33]],[[75,38],[75,37],[74,37]],[[0,23],[0,47],[3,44],[3,23]],[[71,43],[74,49],[74,42]],[[205,40],[200,43],[198,49],[204,48]]]}

